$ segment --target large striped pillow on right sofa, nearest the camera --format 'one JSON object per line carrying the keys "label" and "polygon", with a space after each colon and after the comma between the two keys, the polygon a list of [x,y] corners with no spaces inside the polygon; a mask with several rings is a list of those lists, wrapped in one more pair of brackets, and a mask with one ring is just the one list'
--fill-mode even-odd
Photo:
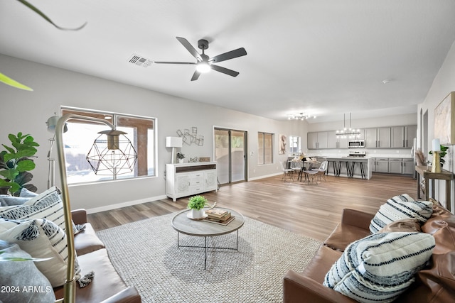
{"label": "large striped pillow on right sofa, nearest the camera", "polygon": [[428,233],[375,233],[351,243],[323,285],[358,302],[392,302],[432,256]]}

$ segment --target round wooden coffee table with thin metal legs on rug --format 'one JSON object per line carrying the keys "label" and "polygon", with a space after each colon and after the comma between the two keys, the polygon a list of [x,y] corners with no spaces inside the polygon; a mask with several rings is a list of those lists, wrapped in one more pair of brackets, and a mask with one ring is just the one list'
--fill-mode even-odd
{"label": "round wooden coffee table with thin metal legs on rug", "polygon": [[[207,222],[203,220],[193,220],[188,218],[188,211],[190,209],[186,209],[184,211],[179,212],[172,218],[171,224],[172,227],[177,231],[177,248],[181,247],[199,247],[204,248],[204,269],[207,265],[207,248],[215,248],[215,249],[231,249],[237,250],[239,247],[239,229],[243,226],[245,219],[243,218],[240,212],[232,210],[232,209],[225,209],[223,207],[217,207],[217,209],[223,209],[226,211],[230,211],[231,216],[235,216],[235,219],[230,221],[228,225],[220,225],[215,224],[212,222]],[[207,237],[214,237],[214,236],[221,236],[227,233],[232,233],[237,231],[237,237],[235,241],[235,248],[227,248],[227,247],[213,247],[207,246]],[[204,246],[183,246],[180,245],[180,233],[185,233],[188,236],[197,236],[197,237],[204,237]]]}

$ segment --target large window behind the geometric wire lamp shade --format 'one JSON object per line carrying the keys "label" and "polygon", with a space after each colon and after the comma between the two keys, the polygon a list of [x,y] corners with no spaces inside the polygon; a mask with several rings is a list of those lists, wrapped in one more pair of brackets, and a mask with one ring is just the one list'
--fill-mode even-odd
{"label": "large window behind the geometric wire lamp shade", "polygon": [[132,172],[122,175],[96,175],[86,160],[87,153],[92,148],[98,132],[106,131],[109,126],[92,121],[70,119],[68,131],[63,133],[65,145],[66,172],[68,184],[82,182],[97,182],[102,180],[118,180],[132,177],[147,177],[155,175],[155,125],[154,118],[115,114],[112,112],[62,109],[62,115],[78,114],[106,119],[117,126],[117,130],[127,133],[137,152],[137,162]]}

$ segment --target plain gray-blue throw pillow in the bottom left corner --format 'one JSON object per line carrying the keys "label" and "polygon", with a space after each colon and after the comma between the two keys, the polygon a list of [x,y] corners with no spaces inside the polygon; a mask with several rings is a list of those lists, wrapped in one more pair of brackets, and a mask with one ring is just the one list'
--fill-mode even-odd
{"label": "plain gray-blue throw pillow in the bottom left corner", "polygon": [[[0,258],[31,258],[17,244],[0,240]],[[49,280],[36,268],[33,261],[0,262],[0,302],[55,302]]]}

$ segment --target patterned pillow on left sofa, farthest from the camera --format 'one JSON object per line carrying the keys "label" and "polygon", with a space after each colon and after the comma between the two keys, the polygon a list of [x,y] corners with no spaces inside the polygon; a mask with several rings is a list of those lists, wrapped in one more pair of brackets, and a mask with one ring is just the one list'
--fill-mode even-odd
{"label": "patterned pillow on left sofa, farthest from the camera", "polygon": [[[0,207],[0,218],[11,220],[47,219],[65,231],[63,202],[57,187],[50,187],[50,189],[32,197],[21,205]],[[72,224],[73,233],[75,233],[77,228],[73,221]]]}

